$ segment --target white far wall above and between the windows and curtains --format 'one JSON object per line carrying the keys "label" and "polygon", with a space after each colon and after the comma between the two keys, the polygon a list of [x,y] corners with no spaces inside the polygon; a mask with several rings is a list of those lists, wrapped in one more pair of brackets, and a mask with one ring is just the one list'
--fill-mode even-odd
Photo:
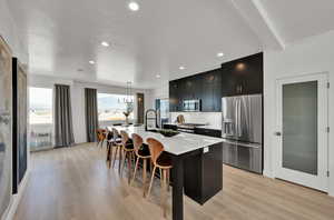
{"label": "white far wall above and between the windows and curtains", "polygon": [[[86,142],[86,118],[85,118],[85,88],[97,89],[98,92],[125,94],[125,88],[106,86],[99,83],[78,82],[73,80],[60,79],[55,77],[31,76],[29,86],[53,88],[56,83],[70,86],[73,134],[76,143]],[[145,110],[154,108],[154,99],[151,90],[134,89],[134,93],[143,92],[145,96]],[[136,106],[135,106],[136,109]],[[136,116],[136,112],[135,112]]]}

